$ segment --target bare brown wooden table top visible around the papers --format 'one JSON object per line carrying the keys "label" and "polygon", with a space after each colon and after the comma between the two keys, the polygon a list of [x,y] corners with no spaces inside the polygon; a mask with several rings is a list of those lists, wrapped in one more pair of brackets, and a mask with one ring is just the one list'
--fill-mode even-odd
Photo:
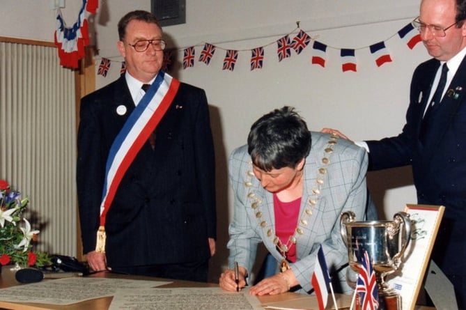
{"label": "bare brown wooden table top visible around the papers", "polygon": [[[172,281],[169,279],[160,279],[154,277],[142,277],[142,276],[130,276],[125,274],[116,274],[111,272],[98,272],[91,274],[88,277],[97,277],[97,278],[114,278],[114,279],[141,279],[141,280],[152,280],[152,281]],[[44,280],[44,281],[53,281],[53,280]],[[10,286],[21,285],[15,279],[7,278],[3,274],[0,274],[0,288],[8,288]],[[181,287],[217,287],[218,284],[210,284],[203,282],[194,282],[194,281],[181,281],[174,280],[170,284],[165,284],[164,286],[159,286],[163,288],[181,288]],[[259,296],[258,299],[261,303],[270,303],[270,302],[283,302],[287,300],[296,300],[298,298],[309,297],[309,295],[297,294],[297,293],[282,293],[280,295],[265,295]],[[1,297],[0,297],[1,298]],[[18,302],[2,302],[0,300],[0,309],[21,309],[21,310],[43,310],[43,309],[71,309],[71,310],[84,310],[84,309],[109,309],[111,300],[113,297],[100,297],[93,300],[86,300],[84,302],[78,302],[76,304],[69,304],[66,306],[63,305],[54,305],[54,304],[39,304],[39,303],[18,303]],[[416,310],[428,310],[435,309],[431,307],[416,307]]]}

